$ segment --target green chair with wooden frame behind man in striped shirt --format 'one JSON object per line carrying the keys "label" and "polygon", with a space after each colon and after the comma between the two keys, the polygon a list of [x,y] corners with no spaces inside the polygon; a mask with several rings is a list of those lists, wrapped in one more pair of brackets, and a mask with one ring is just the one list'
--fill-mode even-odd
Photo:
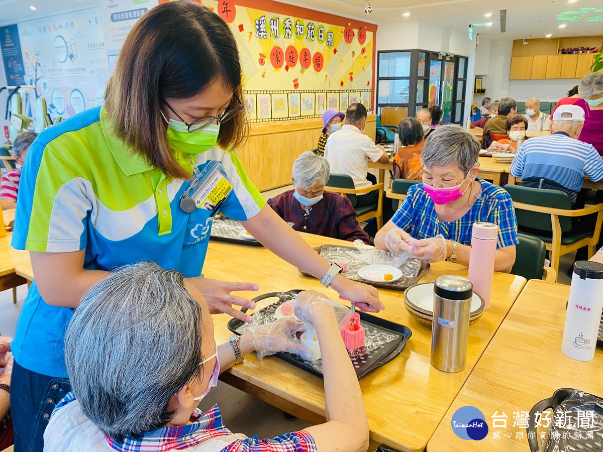
{"label": "green chair with wooden frame behind man in striped shirt", "polygon": [[[601,233],[603,204],[584,209],[570,209],[567,193],[561,190],[545,190],[519,185],[507,185],[505,190],[513,199],[519,232],[545,242],[551,255],[551,267],[559,272],[559,258],[563,254],[589,247],[589,258],[595,254],[595,247]],[[596,215],[594,228],[576,228],[573,218],[589,221]],[[591,217],[593,218],[593,217]]]}

